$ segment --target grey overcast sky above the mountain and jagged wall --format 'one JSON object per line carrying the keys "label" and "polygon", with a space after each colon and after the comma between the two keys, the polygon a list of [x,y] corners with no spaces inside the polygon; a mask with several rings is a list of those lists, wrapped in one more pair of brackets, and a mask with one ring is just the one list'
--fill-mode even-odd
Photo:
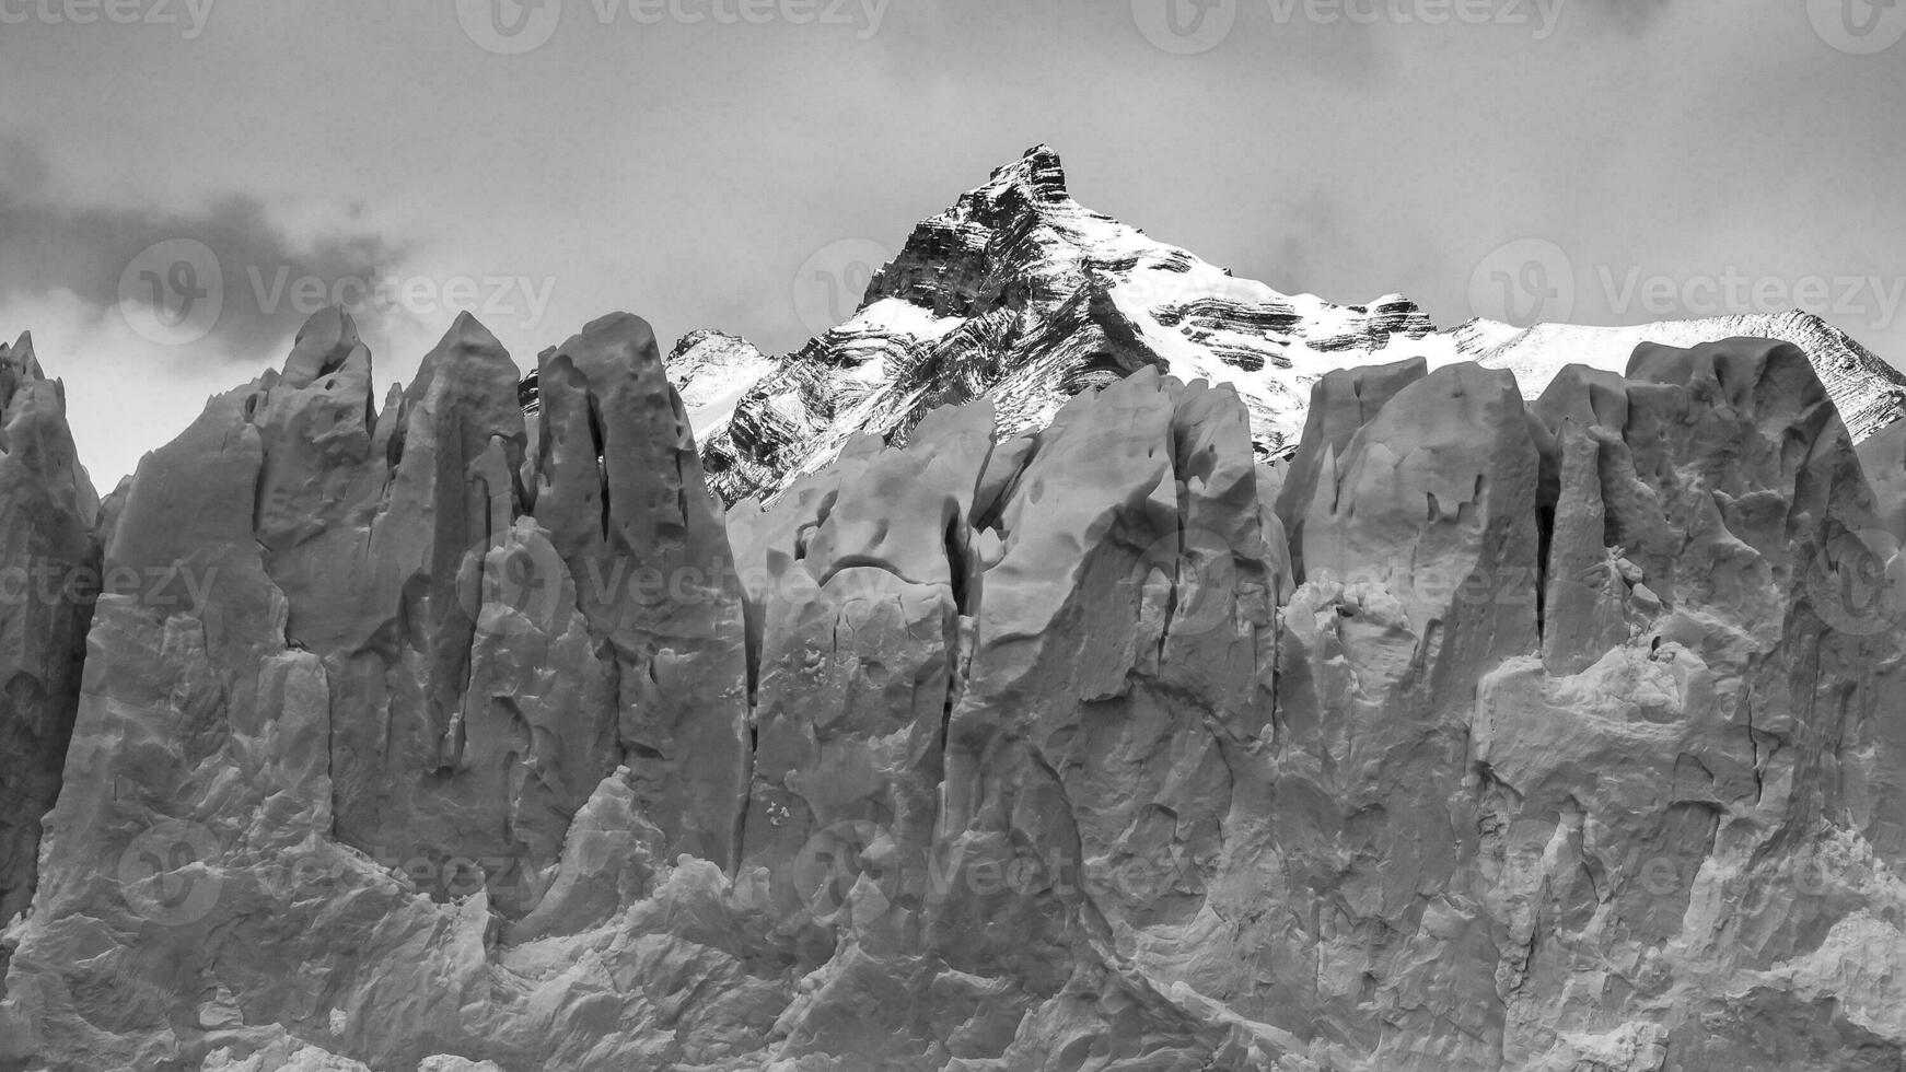
{"label": "grey overcast sky above the mountain and jagged wall", "polygon": [[526,367],[614,308],[785,350],[816,265],[1050,143],[1285,291],[1803,305],[1898,364],[1902,36],[1868,0],[0,0],[0,333],[107,489],[356,278],[395,282],[379,387],[459,307]]}

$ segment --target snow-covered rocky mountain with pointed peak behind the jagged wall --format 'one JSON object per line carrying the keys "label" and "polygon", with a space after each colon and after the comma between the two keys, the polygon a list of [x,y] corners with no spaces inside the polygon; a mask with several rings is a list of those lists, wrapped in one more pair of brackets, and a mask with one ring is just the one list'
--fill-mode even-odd
{"label": "snow-covered rocky mountain with pointed peak behind the jagged wall", "polygon": [[[1351,307],[1283,295],[1083,208],[1041,145],[923,221],[860,308],[793,354],[696,331],[667,366],[709,484],[736,503],[774,499],[858,432],[905,442],[932,409],[978,398],[993,402],[1001,432],[1033,432],[1067,398],[1142,367],[1229,385],[1267,461],[1296,449],[1311,387],[1336,367],[1473,360],[1511,369],[1534,400],[1567,364],[1620,373],[1641,343],[1731,337],[1797,345],[1856,442],[1906,415],[1906,377],[1805,312],[1437,329],[1401,295]],[[524,400],[534,413],[534,375]]]}

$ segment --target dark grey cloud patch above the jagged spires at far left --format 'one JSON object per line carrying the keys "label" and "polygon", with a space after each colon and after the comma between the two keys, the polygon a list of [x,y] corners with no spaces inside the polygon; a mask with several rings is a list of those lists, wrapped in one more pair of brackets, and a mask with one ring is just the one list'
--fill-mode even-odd
{"label": "dark grey cloud patch above the jagged spires at far left", "polygon": [[[170,253],[181,242],[198,253]],[[406,253],[372,232],[295,240],[244,194],[193,211],[63,206],[44,154],[19,137],[0,139],[0,299],[69,289],[103,308],[166,303],[175,301],[168,288],[206,288],[215,274],[223,301],[204,324],[206,348],[248,362],[318,301],[341,297],[374,322],[381,308],[364,297]],[[154,248],[166,263],[154,263]]]}

